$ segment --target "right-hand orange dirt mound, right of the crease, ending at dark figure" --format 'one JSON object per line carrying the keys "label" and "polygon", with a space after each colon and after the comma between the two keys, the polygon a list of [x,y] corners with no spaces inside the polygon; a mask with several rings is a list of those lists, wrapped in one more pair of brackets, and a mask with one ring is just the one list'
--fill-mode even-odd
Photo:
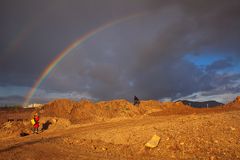
{"label": "right-hand orange dirt mound, right of the crease, ending at dark figure", "polygon": [[112,100],[93,103],[83,100],[77,103],[71,111],[71,121],[93,122],[117,117],[133,117],[138,115],[139,108],[126,100]]}

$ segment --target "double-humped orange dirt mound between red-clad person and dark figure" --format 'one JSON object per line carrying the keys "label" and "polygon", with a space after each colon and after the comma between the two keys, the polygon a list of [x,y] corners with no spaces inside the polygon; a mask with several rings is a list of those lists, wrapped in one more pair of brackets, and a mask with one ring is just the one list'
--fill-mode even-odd
{"label": "double-humped orange dirt mound between red-clad person and dark figure", "polygon": [[133,117],[141,114],[141,108],[127,100],[112,100],[93,103],[89,100],[79,102],[58,99],[44,105],[42,116],[69,119],[72,123],[85,123],[116,117]]}

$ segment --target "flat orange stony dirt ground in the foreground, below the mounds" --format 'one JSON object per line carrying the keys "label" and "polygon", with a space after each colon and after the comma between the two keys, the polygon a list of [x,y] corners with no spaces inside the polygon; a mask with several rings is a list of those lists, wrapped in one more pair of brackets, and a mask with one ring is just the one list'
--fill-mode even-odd
{"label": "flat orange stony dirt ground in the foreground, below the mounds", "polygon": [[[155,113],[155,114],[154,114]],[[159,114],[52,127],[0,138],[0,160],[240,159],[240,110]],[[160,137],[156,148],[144,144]]]}

